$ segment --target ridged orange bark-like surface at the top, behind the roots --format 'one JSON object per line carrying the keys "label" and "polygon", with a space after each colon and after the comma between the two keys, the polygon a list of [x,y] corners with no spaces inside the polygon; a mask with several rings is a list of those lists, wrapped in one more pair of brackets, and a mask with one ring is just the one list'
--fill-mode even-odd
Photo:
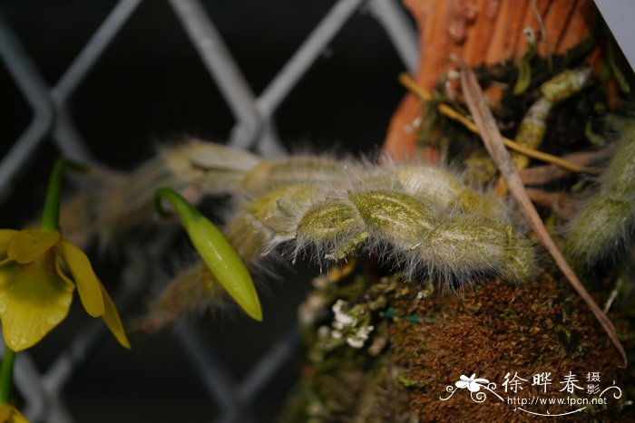
{"label": "ridged orange bark-like surface at the top, behind the roots", "polygon": [[[534,0],[404,0],[418,28],[419,69],[415,81],[432,90],[455,68],[455,54],[469,66],[493,64],[522,55],[527,41],[523,27],[532,27],[545,53]],[[589,34],[597,15],[592,0],[535,0],[544,23],[549,49],[564,53]],[[390,121],[384,152],[395,159],[415,152],[413,130],[421,103],[406,94]]]}

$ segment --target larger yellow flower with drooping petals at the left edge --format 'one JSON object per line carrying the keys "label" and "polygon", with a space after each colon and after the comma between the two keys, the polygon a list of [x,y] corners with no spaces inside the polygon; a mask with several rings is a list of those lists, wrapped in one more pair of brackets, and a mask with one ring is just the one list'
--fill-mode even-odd
{"label": "larger yellow flower with drooping petals at the left edge", "polygon": [[0,229],[0,321],[11,350],[32,347],[64,320],[75,285],[86,312],[103,317],[130,348],[119,313],[82,250],[53,229]]}

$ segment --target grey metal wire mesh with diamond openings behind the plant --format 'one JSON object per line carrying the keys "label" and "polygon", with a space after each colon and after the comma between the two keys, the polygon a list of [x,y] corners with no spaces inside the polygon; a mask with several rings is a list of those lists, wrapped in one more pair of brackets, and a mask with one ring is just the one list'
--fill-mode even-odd
{"label": "grey metal wire mesh with diamond openings behind the plant", "polygon": [[[333,38],[360,10],[370,11],[386,31],[408,71],[414,71],[417,60],[415,31],[396,0],[339,0],[331,6],[318,25],[308,34],[298,50],[257,97],[249,87],[230,50],[199,0],[168,0],[190,43],[200,55],[210,78],[227,102],[236,124],[230,131],[230,144],[253,149],[265,156],[284,152],[278,139],[275,114],[290,91],[308,72]],[[0,14],[0,56],[5,69],[32,110],[28,126],[13,141],[0,161],[0,198],[3,200],[20,183],[32,159],[52,139],[64,156],[80,161],[100,161],[93,157],[88,143],[75,127],[70,99],[93,69],[93,65],[120,34],[122,27],[138,10],[142,0],[120,0],[103,24],[85,43],[81,52],[54,86],[49,86],[24,50],[19,36]],[[154,245],[148,255],[159,255],[161,245]],[[123,272],[121,290],[115,295],[120,308],[135,301],[141,286],[151,278],[161,277],[149,263],[151,256],[130,252],[130,260],[138,265]],[[293,328],[293,325],[289,325]],[[274,342],[259,361],[238,380],[225,370],[224,363],[194,325],[180,322],[176,328],[186,356],[200,377],[208,397],[220,409],[220,421],[250,421],[254,401],[268,389],[270,381],[293,353],[298,335],[294,329]],[[96,351],[105,333],[101,322],[80,331],[44,370],[37,368],[28,353],[20,354],[16,363],[17,389],[24,399],[24,414],[32,421],[73,421],[63,398],[64,386],[73,379],[83,364]]]}

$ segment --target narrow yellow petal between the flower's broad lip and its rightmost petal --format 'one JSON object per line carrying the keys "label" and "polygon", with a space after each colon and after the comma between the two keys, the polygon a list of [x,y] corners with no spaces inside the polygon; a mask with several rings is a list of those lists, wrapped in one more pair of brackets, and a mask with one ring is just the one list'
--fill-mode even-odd
{"label": "narrow yellow petal between the flower's broad lip and its rightmost petal", "polygon": [[[83,308],[93,317],[102,316],[105,312],[101,284],[93,272],[93,266],[83,251],[69,243],[64,238],[57,243],[57,251],[68,264],[73,280],[77,285]],[[60,272],[60,276],[66,275]]]}

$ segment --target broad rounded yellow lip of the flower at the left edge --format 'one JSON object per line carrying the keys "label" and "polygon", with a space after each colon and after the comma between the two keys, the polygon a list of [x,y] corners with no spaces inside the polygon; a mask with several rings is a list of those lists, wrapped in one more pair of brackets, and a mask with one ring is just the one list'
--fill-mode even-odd
{"label": "broad rounded yellow lip of the flower at the left edge", "polygon": [[73,300],[73,284],[54,271],[54,255],[0,269],[6,289],[0,292],[5,342],[14,351],[32,347],[64,320]]}

